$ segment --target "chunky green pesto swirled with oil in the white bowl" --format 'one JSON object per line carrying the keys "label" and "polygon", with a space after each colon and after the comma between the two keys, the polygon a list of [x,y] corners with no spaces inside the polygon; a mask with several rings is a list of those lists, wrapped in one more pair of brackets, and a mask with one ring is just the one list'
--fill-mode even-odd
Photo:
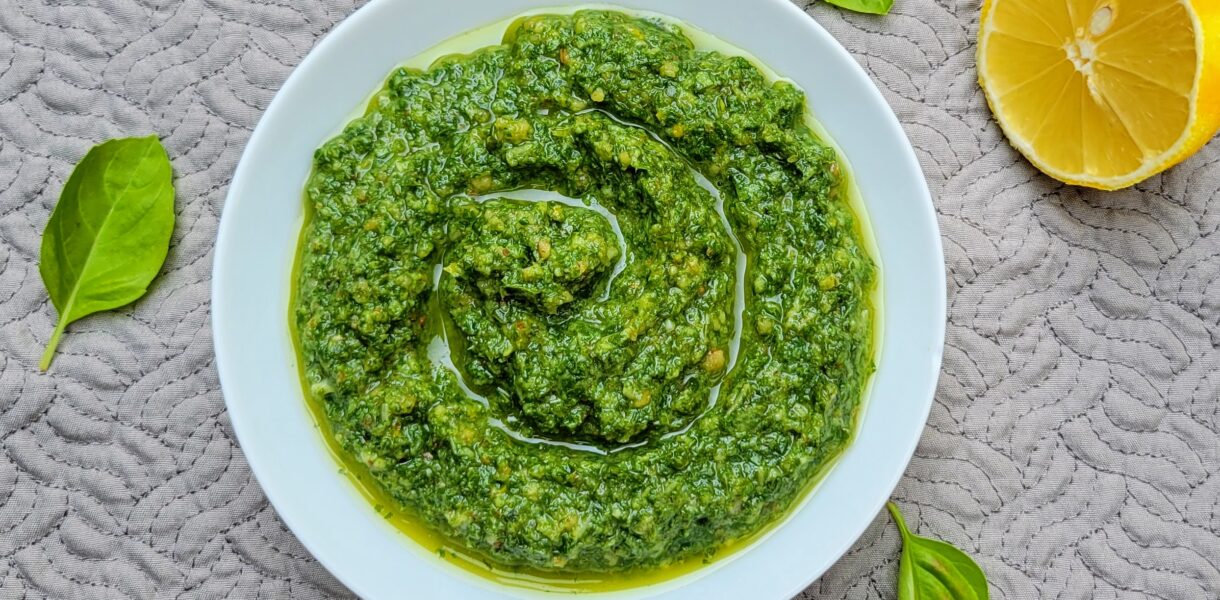
{"label": "chunky green pesto swirled with oil in the white bowl", "polygon": [[509,568],[662,567],[783,516],[874,370],[875,267],[803,115],[608,11],[393,72],[306,187],[294,323],[336,444]]}

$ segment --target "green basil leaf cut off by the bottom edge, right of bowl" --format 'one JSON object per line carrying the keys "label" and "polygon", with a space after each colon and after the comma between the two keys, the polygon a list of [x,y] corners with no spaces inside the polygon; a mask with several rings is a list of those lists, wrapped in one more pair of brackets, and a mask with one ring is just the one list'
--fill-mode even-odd
{"label": "green basil leaf cut off by the bottom edge, right of bowl", "polygon": [[944,541],[915,535],[894,502],[886,507],[903,534],[898,600],[987,600],[987,576],[970,556]]}

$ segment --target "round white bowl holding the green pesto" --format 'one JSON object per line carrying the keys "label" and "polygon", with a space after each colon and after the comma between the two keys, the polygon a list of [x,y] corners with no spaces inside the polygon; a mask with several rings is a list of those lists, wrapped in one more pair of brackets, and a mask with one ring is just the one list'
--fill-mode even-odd
{"label": "round white bowl holding the green pesto", "polygon": [[[536,596],[426,551],[339,473],[305,406],[288,332],[289,280],[314,149],[406,59],[554,0],[373,0],[284,82],[246,144],[216,241],[212,328],[229,418],[279,516],[351,590],[381,598]],[[605,598],[782,599],[825,572],[898,483],[927,420],[944,337],[941,237],[919,162],[867,74],[788,0],[620,0],[748,50],[805,89],[855,173],[882,263],[881,354],[855,440],[804,505],[730,557]]]}

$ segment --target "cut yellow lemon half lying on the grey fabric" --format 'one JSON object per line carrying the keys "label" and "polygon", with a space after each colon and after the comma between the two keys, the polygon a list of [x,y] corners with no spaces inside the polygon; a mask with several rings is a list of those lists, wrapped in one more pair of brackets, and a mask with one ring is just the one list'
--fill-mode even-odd
{"label": "cut yellow lemon half lying on the grey fabric", "polygon": [[1220,128],[1220,0],[986,0],[978,83],[1044,173],[1132,185]]}

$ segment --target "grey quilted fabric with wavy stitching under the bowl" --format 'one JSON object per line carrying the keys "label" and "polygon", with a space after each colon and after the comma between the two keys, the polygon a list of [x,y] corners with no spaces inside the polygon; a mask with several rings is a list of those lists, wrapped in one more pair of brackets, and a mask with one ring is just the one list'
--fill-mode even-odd
{"label": "grey quilted fabric with wavy stitching under the bowl", "polygon": [[[978,2],[898,4],[808,7],[905,126],[944,235],[944,372],[895,498],[920,533],[976,555],[997,598],[1220,596],[1220,143],[1133,190],[1052,182],[975,83]],[[260,111],[354,9],[0,0],[0,598],[348,594],[250,477],[207,295]],[[166,273],[73,326],[39,373],[55,313],[38,244],[59,189],[93,143],[149,132],[177,173]],[[803,598],[893,598],[897,550],[878,517]]]}

